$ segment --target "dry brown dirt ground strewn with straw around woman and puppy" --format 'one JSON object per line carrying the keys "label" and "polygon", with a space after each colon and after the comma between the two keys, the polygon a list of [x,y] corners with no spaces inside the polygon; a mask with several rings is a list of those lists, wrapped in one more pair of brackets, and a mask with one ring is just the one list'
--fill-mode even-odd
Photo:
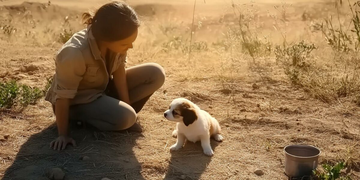
{"label": "dry brown dirt ground strewn with straw around woman and puppy", "polygon": [[[0,75],[4,75],[0,81],[18,79],[21,84],[45,87],[46,78],[54,73],[54,53],[62,45],[57,41],[59,33],[64,27],[73,32],[84,28],[81,13],[105,2],[52,0],[47,5],[45,0],[0,1],[0,22],[11,22],[17,28],[12,37],[0,36]],[[189,43],[193,1],[127,2],[143,21],[127,66],[156,62],[166,71],[165,84],[138,115],[144,132],[101,132],[74,126],[71,134],[78,146],[58,152],[49,149],[49,143],[57,138],[50,103],[40,99],[22,111],[0,112],[0,135],[10,135],[0,141],[2,180],[47,180],[54,167],[65,172],[65,180],[285,180],[290,178],[284,175],[283,148],[290,144],[318,147],[321,164],[348,160],[348,173],[352,179],[360,179],[360,107],[351,98],[339,99],[337,104],[315,99],[291,84],[275,64],[271,78],[261,78],[261,73],[249,70],[249,58],[243,55],[237,64],[223,68],[219,45],[227,39],[228,27],[233,26],[234,17],[228,15],[230,0],[197,1],[192,40],[208,45],[194,50],[190,60],[187,50],[172,48]],[[314,58],[321,59],[328,48],[321,32],[310,32],[309,24],[333,14],[329,10],[333,2],[290,3],[289,41],[318,43],[321,50]],[[261,35],[271,33],[276,44],[282,39],[267,16],[267,9],[275,13],[274,5],[279,7],[280,1],[257,1],[255,14],[263,22]],[[28,11],[30,15],[26,15]],[[347,12],[342,13],[345,16]],[[35,67],[32,75],[21,71],[29,65]],[[229,80],[224,82],[225,78]],[[253,89],[254,82],[259,89]],[[175,123],[163,118],[163,112],[177,97],[192,100],[219,121],[225,139],[222,143],[211,141],[213,157],[204,156],[199,143],[170,152],[169,147],[176,142],[171,136]],[[80,160],[83,156],[90,159]],[[256,169],[264,175],[255,175]]]}

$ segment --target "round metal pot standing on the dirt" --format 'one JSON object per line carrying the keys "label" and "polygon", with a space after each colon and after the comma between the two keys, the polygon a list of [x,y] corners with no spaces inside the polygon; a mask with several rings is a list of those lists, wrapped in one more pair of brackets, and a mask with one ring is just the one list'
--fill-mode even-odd
{"label": "round metal pot standing on the dirt", "polygon": [[288,145],[284,148],[285,174],[291,177],[310,176],[318,167],[320,149],[309,145]]}

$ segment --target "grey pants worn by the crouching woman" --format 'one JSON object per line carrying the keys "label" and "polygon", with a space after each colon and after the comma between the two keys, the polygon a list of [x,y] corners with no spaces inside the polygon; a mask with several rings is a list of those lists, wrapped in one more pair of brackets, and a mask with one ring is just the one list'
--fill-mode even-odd
{"label": "grey pants worn by the crouching woman", "polygon": [[124,130],[134,125],[150,96],[165,82],[165,71],[156,63],[145,63],[126,68],[126,80],[131,105],[118,100],[113,81],[109,80],[105,96],[91,103],[72,105],[69,109],[71,121],[86,122],[99,130]]}

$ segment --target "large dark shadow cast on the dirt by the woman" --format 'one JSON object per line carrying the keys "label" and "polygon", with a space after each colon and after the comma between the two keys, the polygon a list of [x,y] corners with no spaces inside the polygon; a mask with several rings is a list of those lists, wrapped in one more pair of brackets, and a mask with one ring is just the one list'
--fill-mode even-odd
{"label": "large dark shadow cast on the dirt by the woman", "polygon": [[72,137],[77,147],[68,145],[66,150],[58,151],[49,149],[49,143],[57,137],[57,128],[52,125],[23,143],[2,180],[48,180],[51,169],[57,167],[65,173],[64,180],[144,180],[141,164],[132,150],[136,148],[135,139],[141,136],[126,131],[76,129]]}

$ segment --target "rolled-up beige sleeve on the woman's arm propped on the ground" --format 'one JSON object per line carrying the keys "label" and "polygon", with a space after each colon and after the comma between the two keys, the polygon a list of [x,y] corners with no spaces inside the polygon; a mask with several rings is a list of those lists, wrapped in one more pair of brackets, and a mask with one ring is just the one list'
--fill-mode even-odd
{"label": "rolled-up beige sleeve on the woman's arm propped on the ground", "polygon": [[86,71],[84,57],[76,46],[66,46],[55,58],[56,99],[73,99]]}

